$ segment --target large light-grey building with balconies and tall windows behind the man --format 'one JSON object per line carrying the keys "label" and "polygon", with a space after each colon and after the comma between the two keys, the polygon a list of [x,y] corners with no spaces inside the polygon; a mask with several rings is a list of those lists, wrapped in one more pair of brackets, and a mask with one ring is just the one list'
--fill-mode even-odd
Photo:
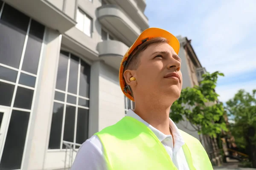
{"label": "large light-grey building with balconies and tall windows behind the man", "polygon": [[64,168],[65,142],[82,144],[134,108],[118,70],[148,28],[145,6],[0,0],[0,169]]}

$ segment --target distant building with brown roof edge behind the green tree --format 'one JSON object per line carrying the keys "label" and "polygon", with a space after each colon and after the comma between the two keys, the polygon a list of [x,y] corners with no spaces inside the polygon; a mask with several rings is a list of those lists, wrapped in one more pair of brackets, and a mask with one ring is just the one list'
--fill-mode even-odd
{"label": "distant building with brown roof edge behind the green tree", "polygon": [[[188,40],[187,37],[177,37],[180,42],[180,51],[179,57],[182,59],[181,64],[181,72],[183,77],[183,85],[182,88],[194,87],[195,85],[199,85],[199,83],[203,80],[202,75],[206,73],[206,69],[202,67],[201,63],[198,60],[198,57],[195,54],[194,49],[191,45],[191,40]],[[217,102],[217,101],[216,101]],[[213,105],[216,102],[207,102],[206,105]],[[202,142],[205,150],[208,153],[210,160],[213,165],[220,165],[222,162],[221,154],[218,150],[218,144],[216,139],[211,139],[209,136],[198,135],[198,131],[196,131],[189,121],[184,120],[177,123],[177,127],[180,130],[189,133],[194,136],[198,140]]]}

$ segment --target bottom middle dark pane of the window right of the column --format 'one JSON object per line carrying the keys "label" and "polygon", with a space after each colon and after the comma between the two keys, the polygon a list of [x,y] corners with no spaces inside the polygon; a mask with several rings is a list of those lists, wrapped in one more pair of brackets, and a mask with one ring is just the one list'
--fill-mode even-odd
{"label": "bottom middle dark pane of the window right of the column", "polygon": [[76,107],[67,105],[66,114],[65,114],[64,136],[63,136],[64,141],[74,142],[75,116],[76,116]]}

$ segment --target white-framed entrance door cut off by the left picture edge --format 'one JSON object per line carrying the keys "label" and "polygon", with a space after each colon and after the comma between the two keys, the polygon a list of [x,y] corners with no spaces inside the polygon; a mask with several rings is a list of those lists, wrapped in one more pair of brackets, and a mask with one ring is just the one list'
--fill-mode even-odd
{"label": "white-framed entrance door cut off by the left picture edge", "polygon": [[6,136],[6,128],[9,121],[10,109],[0,107],[0,160],[3,153],[4,140]]}

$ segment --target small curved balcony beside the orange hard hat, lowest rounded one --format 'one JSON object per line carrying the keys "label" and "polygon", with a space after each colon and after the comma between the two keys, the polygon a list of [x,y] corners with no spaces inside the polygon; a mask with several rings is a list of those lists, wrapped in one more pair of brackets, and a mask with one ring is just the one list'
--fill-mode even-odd
{"label": "small curved balcony beside the orange hard hat, lowest rounded one", "polygon": [[128,46],[116,40],[105,40],[98,43],[99,58],[106,64],[119,70],[123,55],[128,50]]}

